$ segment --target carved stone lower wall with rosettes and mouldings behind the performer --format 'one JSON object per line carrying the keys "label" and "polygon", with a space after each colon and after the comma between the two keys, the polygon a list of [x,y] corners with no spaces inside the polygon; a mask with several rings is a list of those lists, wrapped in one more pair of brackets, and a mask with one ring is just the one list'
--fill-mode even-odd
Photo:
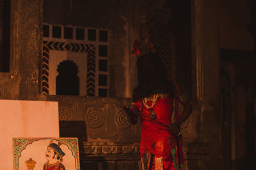
{"label": "carved stone lower wall with rosettes and mouldings behind the performer", "polygon": [[[140,169],[141,123],[131,125],[122,106],[131,98],[47,96],[58,101],[60,137],[79,139],[81,168]],[[179,108],[182,111],[182,106]],[[189,169],[204,169],[209,145],[196,143],[198,113],[183,125],[184,159]]]}

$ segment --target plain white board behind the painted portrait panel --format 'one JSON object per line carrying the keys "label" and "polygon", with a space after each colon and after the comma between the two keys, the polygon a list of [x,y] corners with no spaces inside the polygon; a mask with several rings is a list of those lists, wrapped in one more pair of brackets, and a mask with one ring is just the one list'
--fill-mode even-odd
{"label": "plain white board behind the painted portrait panel", "polygon": [[58,138],[58,102],[0,100],[1,168],[13,169],[12,138]]}

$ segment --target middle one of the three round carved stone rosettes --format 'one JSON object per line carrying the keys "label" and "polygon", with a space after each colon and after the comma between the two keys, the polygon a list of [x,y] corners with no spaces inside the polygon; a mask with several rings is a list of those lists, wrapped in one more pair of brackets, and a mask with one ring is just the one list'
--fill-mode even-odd
{"label": "middle one of the three round carved stone rosettes", "polygon": [[99,108],[89,108],[86,115],[87,127],[97,129],[104,124],[104,112]]}

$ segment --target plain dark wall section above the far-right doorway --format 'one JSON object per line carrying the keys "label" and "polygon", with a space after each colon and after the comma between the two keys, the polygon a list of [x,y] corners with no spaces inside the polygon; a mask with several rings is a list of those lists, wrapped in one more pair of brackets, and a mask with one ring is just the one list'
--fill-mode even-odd
{"label": "plain dark wall section above the far-right doorway", "polygon": [[[230,5],[232,4],[232,5]],[[250,0],[220,1],[220,47],[233,50],[254,50],[253,37],[249,31],[252,20]]]}

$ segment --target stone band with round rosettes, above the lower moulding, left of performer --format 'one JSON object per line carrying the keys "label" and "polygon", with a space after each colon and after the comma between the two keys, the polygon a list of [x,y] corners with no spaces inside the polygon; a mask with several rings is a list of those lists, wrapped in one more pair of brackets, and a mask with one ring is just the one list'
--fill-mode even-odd
{"label": "stone band with round rosettes, above the lower moulding, left of performer", "polygon": [[[84,122],[88,142],[115,141],[128,145],[140,142],[141,125],[127,126],[127,115],[122,109],[122,106],[131,104],[129,98],[48,96],[47,100],[59,102],[60,118],[67,119],[66,122]],[[72,131],[72,124],[65,124],[65,132],[68,128]]]}

